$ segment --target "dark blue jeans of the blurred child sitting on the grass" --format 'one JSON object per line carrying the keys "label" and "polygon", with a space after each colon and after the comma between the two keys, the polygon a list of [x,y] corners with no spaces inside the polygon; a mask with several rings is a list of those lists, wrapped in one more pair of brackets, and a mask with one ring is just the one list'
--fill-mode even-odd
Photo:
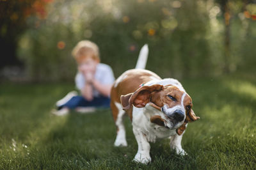
{"label": "dark blue jeans of the blurred child sitting on the grass", "polygon": [[61,109],[63,107],[68,107],[68,109],[76,109],[76,107],[103,107],[108,108],[110,105],[110,98],[109,97],[94,97],[92,101],[86,100],[84,97],[76,96],[70,98],[67,103],[58,107]]}

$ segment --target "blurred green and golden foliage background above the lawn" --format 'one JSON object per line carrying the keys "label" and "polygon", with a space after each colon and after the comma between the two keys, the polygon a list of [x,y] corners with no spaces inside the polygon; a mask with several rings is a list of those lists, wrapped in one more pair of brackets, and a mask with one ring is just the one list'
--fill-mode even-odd
{"label": "blurred green and golden foliage background above the lawn", "polygon": [[0,0],[1,81],[74,81],[84,39],[115,77],[145,43],[161,77],[252,77],[256,0]]}

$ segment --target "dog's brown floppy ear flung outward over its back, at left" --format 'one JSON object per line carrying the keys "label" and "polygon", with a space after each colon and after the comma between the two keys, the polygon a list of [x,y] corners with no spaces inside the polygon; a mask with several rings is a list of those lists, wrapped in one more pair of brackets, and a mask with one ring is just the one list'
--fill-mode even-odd
{"label": "dog's brown floppy ear flung outward over its back, at left", "polygon": [[145,107],[150,102],[150,95],[153,91],[161,91],[164,86],[154,84],[152,86],[141,86],[134,93],[121,95],[121,104],[124,110],[127,110],[133,104],[135,107]]}

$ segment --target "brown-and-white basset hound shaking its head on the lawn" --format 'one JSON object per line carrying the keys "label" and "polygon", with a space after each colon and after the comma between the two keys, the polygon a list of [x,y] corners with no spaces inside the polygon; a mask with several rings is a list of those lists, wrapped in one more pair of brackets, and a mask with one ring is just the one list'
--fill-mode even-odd
{"label": "brown-and-white basset hound shaking its head on the lawn", "polygon": [[150,144],[156,139],[170,137],[170,147],[177,154],[186,155],[181,140],[189,121],[198,120],[192,100],[176,79],[161,79],[145,70],[148,47],[145,45],[135,69],[124,72],[111,89],[111,109],[117,135],[115,146],[127,146],[123,116],[132,121],[132,130],[138,143],[134,161],[151,162]]}

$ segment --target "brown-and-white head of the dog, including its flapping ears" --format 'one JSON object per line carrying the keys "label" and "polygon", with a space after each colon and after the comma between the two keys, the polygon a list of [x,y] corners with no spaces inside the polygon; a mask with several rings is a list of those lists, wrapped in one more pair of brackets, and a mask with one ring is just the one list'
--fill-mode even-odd
{"label": "brown-and-white head of the dog, including its flapping ears", "polygon": [[[159,125],[168,125],[167,128],[178,128],[184,121],[198,120],[192,108],[191,97],[176,86],[142,86],[134,93],[121,97],[124,109],[129,109],[133,104],[135,107],[145,107],[147,104],[163,112],[164,118],[156,117]],[[163,123],[161,123],[163,121]]]}

